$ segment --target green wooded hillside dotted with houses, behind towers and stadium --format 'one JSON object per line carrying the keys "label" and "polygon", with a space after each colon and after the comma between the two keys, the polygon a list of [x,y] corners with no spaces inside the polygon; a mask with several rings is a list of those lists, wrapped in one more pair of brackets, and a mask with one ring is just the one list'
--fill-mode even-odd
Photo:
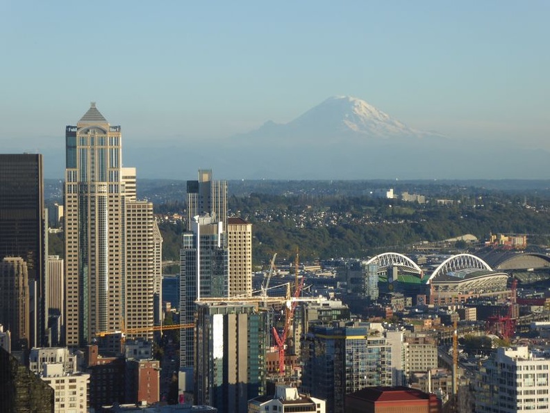
{"label": "green wooded hillside dotted with houses, behind towers and stadium", "polygon": [[[304,260],[410,252],[424,241],[463,234],[480,240],[490,234],[528,234],[531,248],[550,243],[547,196],[528,191],[527,203],[520,191],[449,187],[445,193],[442,186],[437,188],[437,197],[427,197],[425,204],[326,191],[241,193],[228,197],[228,211],[253,224],[254,264],[267,263],[274,252],[281,259],[290,258],[296,248]],[[437,203],[444,195],[453,201],[451,205]],[[155,204],[155,213],[164,239],[163,259],[177,261],[185,222],[168,217],[185,216],[185,202]],[[457,246],[465,248],[462,243]],[[49,234],[49,253],[63,256],[62,232]]]}

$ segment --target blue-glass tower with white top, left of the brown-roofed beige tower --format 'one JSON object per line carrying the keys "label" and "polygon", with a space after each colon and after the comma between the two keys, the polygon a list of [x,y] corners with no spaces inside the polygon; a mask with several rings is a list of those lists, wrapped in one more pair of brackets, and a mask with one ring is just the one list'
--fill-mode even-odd
{"label": "blue-glass tower with white top, left of the brown-roofed beige tower", "polygon": [[[228,254],[226,234],[221,221],[212,216],[195,217],[191,231],[182,236],[180,251],[180,321],[194,323],[196,300],[226,297],[228,292]],[[190,378],[194,365],[193,330],[180,330],[180,365]],[[187,390],[190,389],[188,382]]]}

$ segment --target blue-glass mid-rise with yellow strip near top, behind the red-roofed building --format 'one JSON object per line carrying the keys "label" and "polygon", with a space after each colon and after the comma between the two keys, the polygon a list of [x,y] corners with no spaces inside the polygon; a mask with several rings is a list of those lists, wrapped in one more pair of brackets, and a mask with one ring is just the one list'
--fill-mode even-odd
{"label": "blue-glass mid-rise with yellow strip near top, behind the red-roofed building", "polygon": [[392,385],[392,347],[367,323],[311,325],[302,346],[302,389],[325,399],[328,413],[346,411],[345,394]]}

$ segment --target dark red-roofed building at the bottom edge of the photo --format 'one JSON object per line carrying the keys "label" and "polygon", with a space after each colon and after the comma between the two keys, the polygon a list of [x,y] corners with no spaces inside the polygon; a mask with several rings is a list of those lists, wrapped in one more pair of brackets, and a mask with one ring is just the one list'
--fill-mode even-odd
{"label": "dark red-roofed building at the bottom edge of the photo", "polygon": [[365,387],[346,395],[347,413],[440,413],[435,394],[410,387]]}

